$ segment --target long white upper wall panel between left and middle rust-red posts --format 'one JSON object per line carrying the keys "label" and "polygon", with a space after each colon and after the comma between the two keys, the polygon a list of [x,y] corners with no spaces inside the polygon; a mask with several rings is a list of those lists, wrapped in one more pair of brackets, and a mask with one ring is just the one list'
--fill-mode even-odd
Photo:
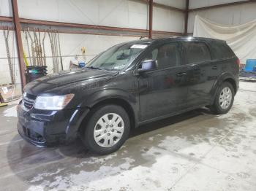
{"label": "long white upper wall panel between left and middle rust-red posts", "polygon": [[147,5],[129,0],[19,0],[20,17],[146,29]]}

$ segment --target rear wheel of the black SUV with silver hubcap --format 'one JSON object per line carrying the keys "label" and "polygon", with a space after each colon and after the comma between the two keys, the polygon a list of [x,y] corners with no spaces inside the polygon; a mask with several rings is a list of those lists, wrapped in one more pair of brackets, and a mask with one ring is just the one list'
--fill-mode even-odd
{"label": "rear wheel of the black SUV with silver hubcap", "polygon": [[233,106],[235,91],[230,82],[223,82],[217,90],[214,104],[210,106],[214,114],[226,114]]}

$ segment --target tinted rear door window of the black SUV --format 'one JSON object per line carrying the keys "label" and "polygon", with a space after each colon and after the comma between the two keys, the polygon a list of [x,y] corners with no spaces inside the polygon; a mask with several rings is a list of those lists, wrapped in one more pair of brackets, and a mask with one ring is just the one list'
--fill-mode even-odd
{"label": "tinted rear door window of the black SUV", "polygon": [[187,63],[211,61],[208,47],[203,42],[184,42]]}

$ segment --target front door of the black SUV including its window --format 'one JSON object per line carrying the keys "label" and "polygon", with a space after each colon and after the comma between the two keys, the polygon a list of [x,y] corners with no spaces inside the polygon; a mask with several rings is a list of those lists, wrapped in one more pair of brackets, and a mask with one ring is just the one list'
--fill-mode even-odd
{"label": "front door of the black SUV including its window", "polygon": [[181,65],[179,43],[159,44],[144,60],[157,61],[157,69],[138,76],[140,120],[151,120],[186,108],[187,66]]}

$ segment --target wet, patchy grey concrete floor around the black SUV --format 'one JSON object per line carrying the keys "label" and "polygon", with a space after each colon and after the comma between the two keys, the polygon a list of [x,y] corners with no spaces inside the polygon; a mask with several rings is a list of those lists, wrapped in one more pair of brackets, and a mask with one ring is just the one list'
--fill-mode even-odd
{"label": "wet, patchy grey concrete floor around the black SUV", "polygon": [[197,109],[132,132],[113,155],[80,141],[37,148],[0,108],[0,190],[256,190],[256,83],[241,82],[233,109]]}

